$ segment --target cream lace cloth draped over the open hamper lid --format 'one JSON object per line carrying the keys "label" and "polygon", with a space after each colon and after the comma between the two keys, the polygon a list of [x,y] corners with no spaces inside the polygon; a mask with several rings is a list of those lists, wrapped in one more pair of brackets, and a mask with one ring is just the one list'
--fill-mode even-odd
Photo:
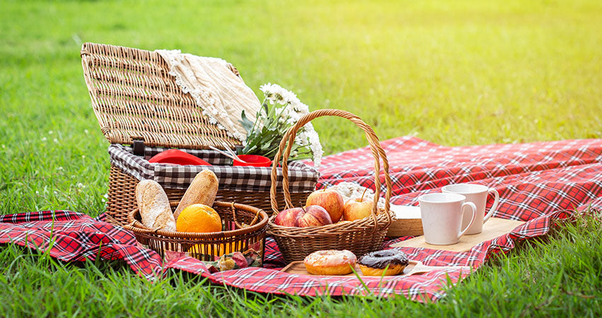
{"label": "cream lace cloth draped over the open hamper lid", "polygon": [[240,76],[232,73],[228,62],[215,57],[197,57],[182,54],[179,49],[156,50],[169,65],[170,75],[184,93],[190,93],[209,122],[224,129],[228,136],[246,140],[247,132],[241,120],[241,112],[251,122],[261,102]]}

